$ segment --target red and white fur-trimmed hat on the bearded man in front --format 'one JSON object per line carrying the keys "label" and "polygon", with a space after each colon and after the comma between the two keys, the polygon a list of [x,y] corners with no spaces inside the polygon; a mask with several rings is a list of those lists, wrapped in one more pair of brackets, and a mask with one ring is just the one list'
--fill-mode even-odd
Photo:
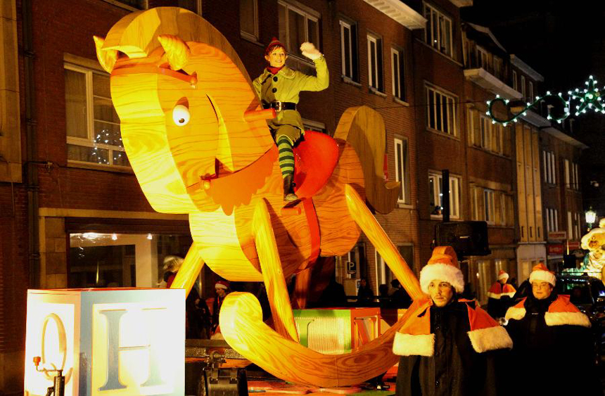
{"label": "red and white fur-trimmed hat on the bearded man in front", "polygon": [[428,294],[428,284],[432,281],[450,283],[457,293],[464,291],[464,276],[460,271],[458,258],[452,246],[437,246],[433,255],[420,272],[420,288]]}

